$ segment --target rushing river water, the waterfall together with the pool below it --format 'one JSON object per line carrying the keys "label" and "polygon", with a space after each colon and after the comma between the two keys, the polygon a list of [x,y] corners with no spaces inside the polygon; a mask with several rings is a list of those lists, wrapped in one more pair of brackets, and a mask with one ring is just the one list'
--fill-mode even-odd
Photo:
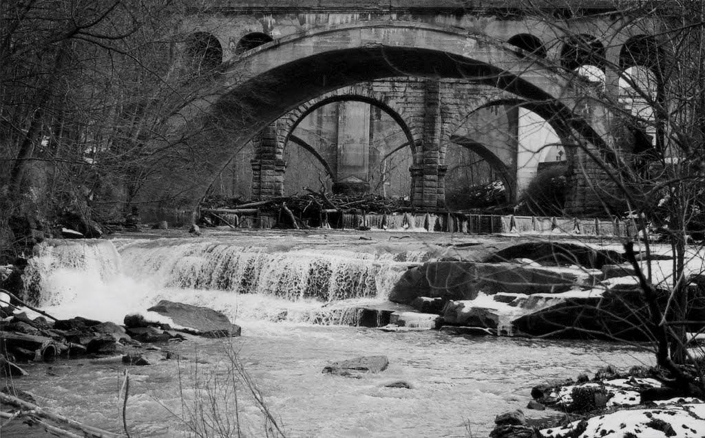
{"label": "rushing river water, the waterfall together with the pool below it", "polygon": [[[183,361],[130,367],[133,436],[184,436],[188,427],[180,418],[190,418],[197,394],[215,394],[226,418],[237,412],[247,436],[264,436],[262,413],[246,388],[239,388],[237,409],[223,387],[204,389],[228,377],[231,347],[287,436],[300,438],[466,437],[467,428],[483,437],[494,415],[525,406],[538,382],[606,363],[651,363],[647,353],[604,342],[382,332],[325,317],[339,314],[326,305],[334,299],[345,299],[345,306],[384,301],[408,265],[436,254],[423,242],[245,233],[116,239],[82,251],[79,245],[47,247],[32,262],[49,313],[121,322],[125,313],[171,299],[216,308],[243,326],[243,337],[231,344],[170,343],[163,347]],[[320,322],[333,325],[313,324]],[[329,361],[377,354],[390,361],[383,373],[360,379],[321,373]],[[39,363],[16,386],[64,415],[119,431],[124,369],[119,358]],[[385,386],[400,380],[411,389]]]}

